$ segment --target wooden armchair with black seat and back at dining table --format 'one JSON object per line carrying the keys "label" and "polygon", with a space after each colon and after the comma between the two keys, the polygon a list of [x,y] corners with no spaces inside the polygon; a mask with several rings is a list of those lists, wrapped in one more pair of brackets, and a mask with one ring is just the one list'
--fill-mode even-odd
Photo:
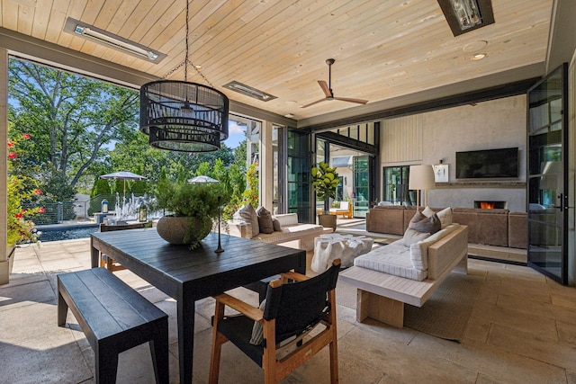
{"label": "wooden armchair with black seat and back at dining table", "polygon": [[[339,269],[340,260],[337,259],[328,271],[315,277],[283,273],[280,279],[268,285],[266,300],[260,308],[227,293],[214,297],[216,309],[209,382],[218,383],[221,346],[230,341],[264,370],[266,384],[284,379],[329,345],[330,381],[337,383],[336,282]],[[241,315],[225,317],[226,306],[238,310]]]}

